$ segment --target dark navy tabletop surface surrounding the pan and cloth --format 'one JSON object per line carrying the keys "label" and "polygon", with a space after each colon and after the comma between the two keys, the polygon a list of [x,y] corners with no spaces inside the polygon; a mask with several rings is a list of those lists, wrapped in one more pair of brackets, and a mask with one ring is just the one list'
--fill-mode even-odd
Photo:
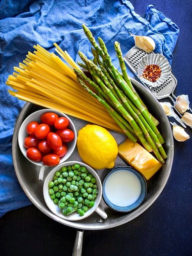
{"label": "dark navy tabletop surface surrounding the pan and cloth", "polygon": [[[172,73],[178,81],[175,95],[188,94],[192,103],[192,4],[190,0],[131,1],[145,17],[153,4],[180,29],[173,51]],[[192,104],[191,104],[192,105]],[[174,141],[174,162],[168,182],[152,206],[122,226],[84,232],[83,256],[192,255],[191,138]],[[63,226],[34,205],[6,213],[0,220],[1,255],[72,255],[76,229]]]}

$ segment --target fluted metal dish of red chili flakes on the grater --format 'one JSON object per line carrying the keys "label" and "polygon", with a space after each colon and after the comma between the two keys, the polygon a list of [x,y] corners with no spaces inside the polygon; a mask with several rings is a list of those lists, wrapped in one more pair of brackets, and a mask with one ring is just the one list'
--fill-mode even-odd
{"label": "fluted metal dish of red chili flakes on the grater", "polygon": [[157,87],[171,76],[171,66],[162,54],[149,54],[139,62],[137,76],[149,87]]}

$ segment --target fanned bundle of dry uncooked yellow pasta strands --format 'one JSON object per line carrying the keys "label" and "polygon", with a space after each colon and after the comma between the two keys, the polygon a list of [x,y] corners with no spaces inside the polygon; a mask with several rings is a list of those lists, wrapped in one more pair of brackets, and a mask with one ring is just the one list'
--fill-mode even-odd
{"label": "fanned bundle of dry uncooked yellow pasta strands", "polygon": [[68,65],[55,53],[34,45],[36,51],[28,52],[23,63],[14,67],[15,72],[9,75],[6,84],[13,88],[9,93],[20,100],[122,132],[103,105],[77,83],[73,68],[80,68],[75,61],[56,43],[54,45]]}

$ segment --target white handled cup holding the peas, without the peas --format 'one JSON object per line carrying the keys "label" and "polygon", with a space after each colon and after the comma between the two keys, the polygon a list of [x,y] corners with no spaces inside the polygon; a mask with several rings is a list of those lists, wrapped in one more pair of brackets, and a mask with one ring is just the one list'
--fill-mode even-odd
{"label": "white handled cup holding the peas, without the peas", "polygon": [[[83,216],[80,216],[77,212],[73,212],[70,215],[63,215],[62,210],[59,209],[59,207],[58,207],[58,204],[55,204],[53,202],[53,199],[51,199],[50,195],[49,195],[48,184],[50,181],[53,180],[55,172],[59,171],[64,166],[74,165],[75,163],[78,163],[80,166],[85,166],[87,168],[88,172],[91,173],[95,177],[96,184],[98,186],[97,198],[94,201],[95,204],[93,207],[89,208],[89,210],[87,212],[85,212],[85,214]],[[101,197],[102,197],[101,180],[100,180],[98,174],[90,166],[86,165],[83,162],[69,161],[69,162],[61,163],[61,164],[57,165],[56,167],[54,167],[45,178],[45,181],[43,184],[43,196],[44,196],[45,203],[47,204],[47,207],[49,208],[49,210],[62,219],[66,219],[68,221],[79,221],[80,219],[84,219],[84,218],[88,217],[94,211],[97,212],[102,218],[104,218],[104,219],[107,218],[107,214],[101,208],[98,207],[98,205],[101,201]]]}

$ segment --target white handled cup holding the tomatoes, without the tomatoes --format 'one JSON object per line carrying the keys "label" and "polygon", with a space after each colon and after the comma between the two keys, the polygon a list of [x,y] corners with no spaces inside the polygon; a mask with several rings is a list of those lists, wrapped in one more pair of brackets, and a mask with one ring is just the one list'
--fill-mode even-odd
{"label": "white handled cup holding the tomatoes, without the tomatoes", "polygon": [[58,112],[58,111],[55,111],[55,110],[52,110],[52,109],[42,109],[42,110],[38,110],[38,111],[35,111],[33,112],[32,114],[30,114],[24,121],[23,123],[21,124],[20,126],[20,129],[19,129],[19,132],[18,132],[18,143],[19,143],[19,148],[21,150],[21,152],[23,153],[23,155],[30,161],[32,162],[34,165],[38,165],[40,166],[40,173],[39,173],[39,180],[43,180],[43,177],[44,177],[44,172],[46,170],[46,168],[48,168],[48,166],[44,165],[42,161],[39,161],[39,162],[35,162],[35,161],[32,161],[31,159],[29,159],[27,157],[27,148],[24,147],[24,139],[29,136],[29,134],[26,132],[26,126],[27,124],[29,124],[30,122],[32,121],[36,121],[38,123],[41,123],[41,119],[40,119],[40,116],[46,112],[54,112],[56,114],[58,114],[59,117],[66,117],[68,118],[69,120],[69,126],[68,128],[70,130],[72,130],[74,132],[74,140],[67,143],[67,146],[68,146],[68,151],[67,153],[60,158],[60,162],[59,163],[62,163],[64,161],[66,161],[70,156],[71,154],[73,153],[74,149],[75,149],[75,146],[76,146],[76,142],[77,142],[77,132],[76,132],[76,128],[72,122],[72,120],[67,116],[65,115],[64,113],[61,113],[61,112]]}

